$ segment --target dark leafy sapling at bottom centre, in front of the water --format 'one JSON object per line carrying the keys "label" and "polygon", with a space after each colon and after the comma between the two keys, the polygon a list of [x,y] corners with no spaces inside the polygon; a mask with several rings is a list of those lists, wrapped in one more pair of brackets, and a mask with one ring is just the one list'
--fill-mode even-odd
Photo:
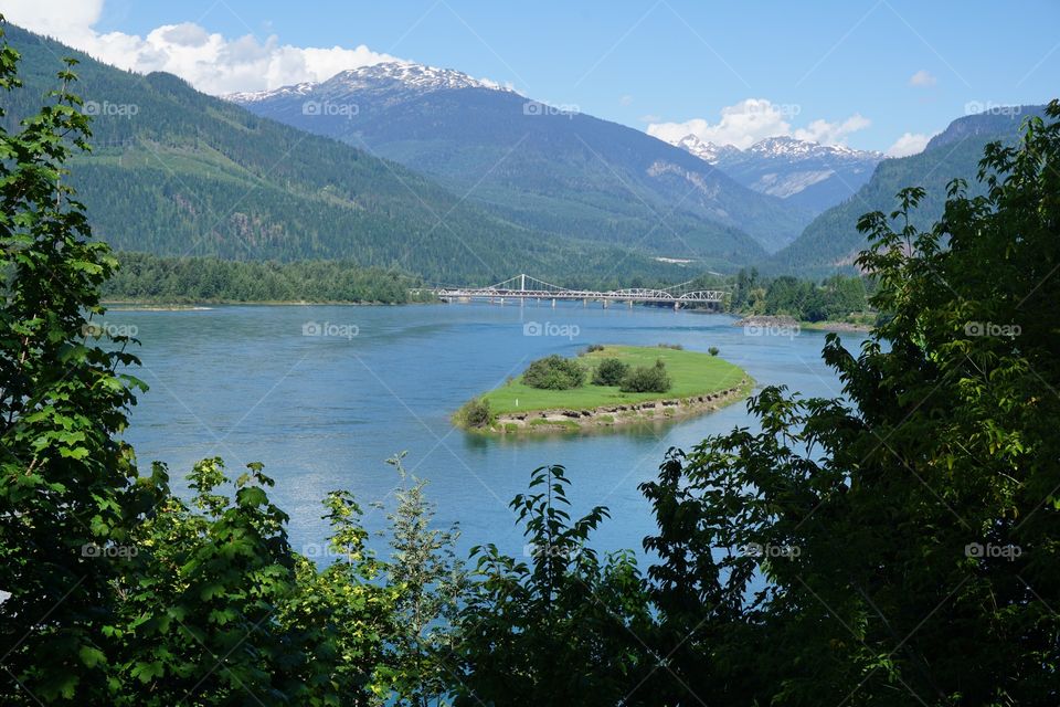
{"label": "dark leafy sapling at bottom centre, in front of the water", "polygon": [[569,483],[562,466],[541,467],[511,502],[529,561],[471,550],[479,582],[462,615],[457,705],[616,705],[650,671],[635,557],[601,559],[587,546],[607,510],[572,523]]}

